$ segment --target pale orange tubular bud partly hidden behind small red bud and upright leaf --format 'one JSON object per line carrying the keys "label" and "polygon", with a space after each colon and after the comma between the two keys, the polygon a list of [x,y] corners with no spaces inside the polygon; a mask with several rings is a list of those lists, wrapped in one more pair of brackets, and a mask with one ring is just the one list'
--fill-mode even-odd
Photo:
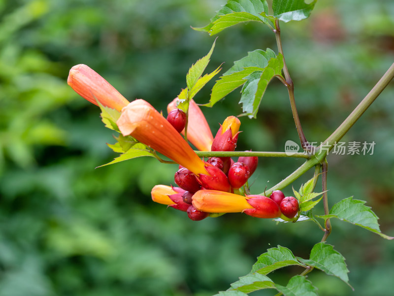
{"label": "pale orange tubular bud partly hidden behind small red bud and upright leaf", "polygon": [[[167,106],[168,113],[176,109],[175,98]],[[182,131],[185,134],[185,131]],[[188,123],[188,140],[196,146],[199,151],[210,151],[213,135],[209,129],[208,123],[206,122],[204,114],[202,114],[201,109],[198,107],[196,102],[192,99],[189,104],[189,123]]]}

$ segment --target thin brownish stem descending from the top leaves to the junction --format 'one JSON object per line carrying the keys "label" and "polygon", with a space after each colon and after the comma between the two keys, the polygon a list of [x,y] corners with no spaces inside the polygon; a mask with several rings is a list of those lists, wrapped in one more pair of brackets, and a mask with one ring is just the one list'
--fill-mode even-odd
{"label": "thin brownish stem descending from the top leaves to the junction", "polygon": [[276,38],[276,44],[278,45],[278,51],[279,51],[279,53],[282,54],[282,57],[283,57],[283,73],[285,74],[286,87],[289,92],[289,99],[290,99],[290,105],[292,107],[294,122],[296,124],[296,129],[297,129],[299,140],[301,142],[301,146],[305,150],[308,147],[308,141],[306,140],[305,134],[302,131],[301,122],[299,121],[299,116],[298,116],[297,107],[296,107],[296,100],[294,98],[294,83],[293,83],[292,78],[290,77],[289,69],[287,68],[286,61],[285,61],[285,55],[283,54],[282,40],[280,38],[279,20],[275,21],[274,33],[275,33],[275,38]]}

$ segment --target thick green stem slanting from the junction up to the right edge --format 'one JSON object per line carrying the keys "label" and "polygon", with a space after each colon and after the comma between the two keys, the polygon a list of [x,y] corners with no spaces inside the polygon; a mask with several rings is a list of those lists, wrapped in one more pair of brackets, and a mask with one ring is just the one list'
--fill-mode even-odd
{"label": "thick green stem slanting from the junction up to the right edge", "polygon": [[351,127],[359,120],[361,115],[368,109],[373,101],[380,95],[380,93],[387,87],[390,81],[394,78],[394,63],[387,70],[387,72],[380,78],[378,83],[372,88],[372,90],[365,96],[360,104],[353,110],[353,112],[345,119],[345,121],[333,132],[324,145],[330,147],[331,150],[335,143],[338,142],[345,134],[350,130]]}

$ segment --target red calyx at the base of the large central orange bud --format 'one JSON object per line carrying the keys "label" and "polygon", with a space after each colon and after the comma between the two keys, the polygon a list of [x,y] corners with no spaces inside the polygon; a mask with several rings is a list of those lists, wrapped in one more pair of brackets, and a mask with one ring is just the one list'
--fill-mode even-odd
{"label": "red calyx at the base of the large central orange bud", "polygon": [[198,174],[198,180],[202,187],[205,189],[230,192],[231,186],[229,180],[220,168],[212,164],[205,164],[205,169],[208,171],[209,175]]}

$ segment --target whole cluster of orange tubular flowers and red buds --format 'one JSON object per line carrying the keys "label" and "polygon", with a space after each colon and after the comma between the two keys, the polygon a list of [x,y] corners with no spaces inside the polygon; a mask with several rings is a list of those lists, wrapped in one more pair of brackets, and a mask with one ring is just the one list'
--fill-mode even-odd
{"label": "whole cluster of orange tubular flowers and red buds", "polygon": [[[71,68],[68,84],[83,98],[98,102],[119,112],[117,128],[153,150],[179,164],[174,180],[179,187],[156,185],[152,199],[185,211],[192,220],[202,220],[210,213],[243,212],[258,218],[294,217],[298,202],[294,197],[279,200],[259,195],[241,195],[248,178],[256,170],[257,157],[243,156],[233,162],[230,157],[201,160],[181,136],[188,120],[188,140],[200,151],[234,151],[240,121],[226,118],[213,137],[198,105],[191,100],[188,118],[177,109],[177,99],[168,104],[164,118],[152,105],[142,99],[129,102],[104,78],[86,65]],[[280,202],[279,202],[280,201]]]}

